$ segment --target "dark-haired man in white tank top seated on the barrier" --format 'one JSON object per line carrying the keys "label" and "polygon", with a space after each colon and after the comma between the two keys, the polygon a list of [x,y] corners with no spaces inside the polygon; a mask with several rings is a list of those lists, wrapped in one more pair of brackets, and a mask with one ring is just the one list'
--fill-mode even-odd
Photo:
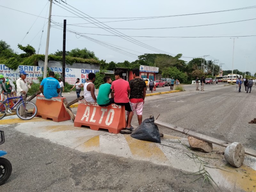
{"label": "dark-haired man in white tank top seated on the barrier", "polygon": [[88,74],[88,81],[84,84],[84,99],[89,103],[94,103],[97,100],[95,95],[95,86],[93,82],[95,81],[96,75],[94,73]]}

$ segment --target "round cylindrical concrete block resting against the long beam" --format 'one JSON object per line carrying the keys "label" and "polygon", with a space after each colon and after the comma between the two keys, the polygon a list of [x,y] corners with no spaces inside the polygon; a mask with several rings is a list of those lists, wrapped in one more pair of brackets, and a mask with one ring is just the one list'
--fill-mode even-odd
{"label": "round cylindrical concrete block resting against the long beam", "polygon": [[225,149],[225,159],[235,167],[240,167],[244,162],[244,146],[241,143],[231,143]]}

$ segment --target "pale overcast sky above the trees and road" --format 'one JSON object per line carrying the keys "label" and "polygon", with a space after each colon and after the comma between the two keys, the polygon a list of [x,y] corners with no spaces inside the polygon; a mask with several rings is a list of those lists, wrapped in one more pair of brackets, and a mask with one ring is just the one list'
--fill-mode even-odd
{"label": "pale overcast sky above the trees and road", "polygon": [[[235,39],[233,69],[245,71],[246,68],[246,71],[253,72],[253,74],[256,72],[256,2],[253,0],[64,1],[66,1],[67,4],[64,4],[61,1],[61,4],[57,3],[56,1],[53,1],[56,4],[52,4],[52,21],[55,23],[51,23],[52,27],[50,32],[49,54],[54,53],[57,50],[62,50],[62,26],[63,20],[66,19],[67,29],[77,33],[74,34],[67,32],[66,50],[69,51],[76,47],[79,49],[86,48],[93,51],[100,60],[103,59],[107,62],[123,62],[124,60],[132,62],[136,60],[138,55],[142,55],[144,53],[169,53],[174,55],[181,53],[184,56],[182,59],[186,61],[192,60],[193,57],[210,55],[205,59],[219,60],[216,62],[218,62],[218,64],[224,63],[222,67],[223,70],[232,70],[233,39],[231,39],[230,36],[247,36]],[[10,44],[11,48],[18,53],[21,53],[21,51],[18,49],[17,44],[22,44],[24,46],[30,44],[36,49],[37,52],[41,40],[39,54],[45,54],[48,19],[44,18],[48,18],[49,16],[50,2],[48,0],[0,0],[0,2],[0,39]],[[225,11],[251,6],[254,7],[242,10]],[[73,11],[69,8],[73,9]],[[29,15],[27,13],[33,15]],[[98,21],[93,20],[92,18],[80,18],[88,16],[95,19],[97,18],[96,20]],[[173,17],[153,19],[145,18],[159,16]],[[103,23],[91,24],[92,21]],[[75,24],[77,26],[70,24]],[[208,26],[186,27],[196,25]],[[44,32],[42,33],[43,27]],[[104,30],[102,28],[119,29]],[[162,29],[139,30],[138,28]],[[116,35],[150,37],[121,38]],[[88,40],[87,38],[84,38],[84,36],[100,41],[100,44],[105,43],[105,46],[115,50],[117,49],[119,52]],[[159,38],[159,36],[165,38]],[[212,37],[196,38],[199,36]],[[129,41],[127,39],[129,39]],[[142,46],[138,44],[141,44]],[[124,52],[125,54],[120,52]]]}

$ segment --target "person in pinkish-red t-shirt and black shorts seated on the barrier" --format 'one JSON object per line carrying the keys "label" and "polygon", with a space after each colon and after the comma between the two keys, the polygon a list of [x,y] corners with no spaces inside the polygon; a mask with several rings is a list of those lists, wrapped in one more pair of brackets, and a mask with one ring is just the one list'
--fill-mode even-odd
{"label": "person in pinkish-red t-shirt and black shorts seated on the barrier", "polygon": [[132,121],[132,106],[129,100],[130,95],[130,86],[129,82],[125,81],[122,70],[116,70],[115,79],[111,85],[111,89],[114,91],[114,101],[116,105],[124,105],[125,110],[128,111],[127,121],[126,121],[126,129],[133,129],[131,125]]}

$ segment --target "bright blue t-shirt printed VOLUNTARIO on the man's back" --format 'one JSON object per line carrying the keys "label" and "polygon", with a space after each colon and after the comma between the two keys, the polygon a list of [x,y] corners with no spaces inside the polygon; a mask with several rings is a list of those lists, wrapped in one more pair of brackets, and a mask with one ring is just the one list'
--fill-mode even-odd
{"label": "bright blue t-shirt printed VOLUNTARIO on the man's back", "polygon": [[51,99],[58,97],[57,89],[60,88],[59,81],[53,77],[44,78],[40,85],[44,86],[44,97]]}

